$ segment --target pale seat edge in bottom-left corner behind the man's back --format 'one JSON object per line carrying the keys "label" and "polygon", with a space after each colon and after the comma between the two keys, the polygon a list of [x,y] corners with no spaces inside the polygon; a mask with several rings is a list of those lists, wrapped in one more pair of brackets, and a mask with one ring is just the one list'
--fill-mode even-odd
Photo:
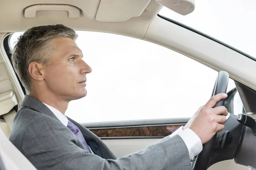
{"label": "pale seat edge in bottom-left corner behind the man's back", "polygon": [[0,129],[0,170],[36,170]]}

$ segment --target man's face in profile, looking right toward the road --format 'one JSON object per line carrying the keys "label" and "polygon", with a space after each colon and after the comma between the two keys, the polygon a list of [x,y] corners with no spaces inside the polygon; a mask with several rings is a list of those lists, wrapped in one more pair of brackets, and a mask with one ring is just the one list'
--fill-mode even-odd
{"label": "man's face in profile, looking right toward the road", "polygon": [[82,60],[82,51],[70,38],[56,38],[57,45],[50,65],[45,66],[44,80],[47,88],[56,96],[65,100],[75,100],[86,96],[86,74],[92,70]]}

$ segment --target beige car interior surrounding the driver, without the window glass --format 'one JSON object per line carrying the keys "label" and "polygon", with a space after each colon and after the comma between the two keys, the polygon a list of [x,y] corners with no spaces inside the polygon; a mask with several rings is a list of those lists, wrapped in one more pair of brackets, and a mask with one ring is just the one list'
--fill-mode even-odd
{"label": "beige car interior surrounding the driver, without the window glass", "polygon": [[[196,9],[196,0],[1,2],[0,170],[36,169],[8,140],[12,121],[26,94],[11,63],[11,37],[33,26],[59,23],[76,31],[111,33],[154,43],[217,71],[212,95],[228,94],[218,105],[224,105],[230,114],[225,129],[204,144],[203,151],[191,160],[192,169],[256,168],[256,58],[159,14],[162,8],[168,8],[180,15],[190,15]],[[227,91],[230,81],[235,87]],[[237,96],[242,103],[239,113],[235,113]],[[188,121],[189,117],[80,123],[99,136],[117,157],[122,157],[157,142]]]}

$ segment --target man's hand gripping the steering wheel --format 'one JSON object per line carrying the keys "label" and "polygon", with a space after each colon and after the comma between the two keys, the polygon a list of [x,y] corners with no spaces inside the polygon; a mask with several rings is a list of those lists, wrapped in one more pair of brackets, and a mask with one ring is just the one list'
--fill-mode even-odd
{"label": "man's hand gripping the steering wheel", "polygon": [[[218,131],[224,129],[227,109],[224,106],[212,108],[221,99],[227,98],[227,94],[217,94],[201,106],[193,117],[185,125],[185,128],[193,130],[201,139],[202,144],[208,142]],[[222,114],[222,115],[221,115]]]}

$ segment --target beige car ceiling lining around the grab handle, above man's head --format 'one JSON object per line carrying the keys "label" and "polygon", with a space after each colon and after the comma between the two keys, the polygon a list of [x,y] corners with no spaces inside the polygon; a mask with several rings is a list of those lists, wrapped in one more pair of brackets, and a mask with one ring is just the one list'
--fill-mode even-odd
{"label": "beige car ceiling lining around the grab handle, above man's head", "polygon": [[[0,33],[25,31],[32,26],[49,24],[64,24],[75,30],[101,31],[130,37],[143,38],[151,20],[162,8],[154,0],[142,0],[138,5],[137,0],[1,0]],[[121,3],[120,3],[121,2]],[[122,4],[127,5],[122,5]],[[67,11],[46,10],[37,11],[35,18],[24,17],[24,10],[35,4],[67,4],[80,8],[79,18],[69,18]],[[111,5],[110,5],[111,4]],[[99,8],[100,6],[100,8]],[[113,8],[108,10],[109,6]],[[131,17],[125,22],[100,22],[96,20],[98,14],[109,14],[112,9],[118,11],[120,17]],[[104,11],[105,10],[105,11]],[[128,14],[127,14],[128,13]],[[134,13],[134,14],[133,14]],[[113,17],[113,15],[111,16]]]}

